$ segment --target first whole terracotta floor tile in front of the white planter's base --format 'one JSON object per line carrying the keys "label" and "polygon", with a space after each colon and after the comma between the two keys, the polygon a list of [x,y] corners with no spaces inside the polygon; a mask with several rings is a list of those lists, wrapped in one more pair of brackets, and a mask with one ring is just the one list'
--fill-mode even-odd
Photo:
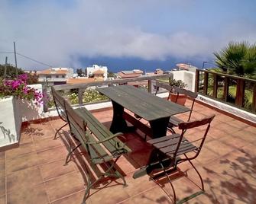
{"label": "first whole terracotta floor tile in front of the white planter's base", "polygon": [[34,152],[34,144],[33,142],[25,143],[23,145],[19,145],[18,148],[12,148],[11,150],[5,151],[6,159],[17,158],[23,155],[28,155]]}

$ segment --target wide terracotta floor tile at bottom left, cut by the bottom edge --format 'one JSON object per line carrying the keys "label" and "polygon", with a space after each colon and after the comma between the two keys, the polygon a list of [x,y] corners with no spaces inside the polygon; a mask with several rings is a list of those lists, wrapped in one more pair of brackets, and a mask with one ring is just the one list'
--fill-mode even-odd
{"label": "wide terracotta floor tile at bottom left, cut by the bottom edge", "polygon": [[28,186],[7,194],[7,203],[26,203],[26,204],[47,204],[47,193],[44,190],[44,184]]}

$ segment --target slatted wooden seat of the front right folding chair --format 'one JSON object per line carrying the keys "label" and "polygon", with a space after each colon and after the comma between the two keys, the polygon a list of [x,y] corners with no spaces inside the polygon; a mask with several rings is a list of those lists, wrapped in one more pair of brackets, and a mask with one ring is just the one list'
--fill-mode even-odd
{"label": "slatted wooden seat of the front right folding chair", "polygon": [[[173,154],[177,149],[178,142],[180,141],[180,134],[167,135],[165,137],[160,137],[158,139],[151,139],[147,142],[154,146],[154,148],[159,149],[165,155],[173,158]],[[189,140],[183,137],[180,147],[177,151],[177,156],[186,154],[190,151],[197,150],[198,148],[193,145]]]}

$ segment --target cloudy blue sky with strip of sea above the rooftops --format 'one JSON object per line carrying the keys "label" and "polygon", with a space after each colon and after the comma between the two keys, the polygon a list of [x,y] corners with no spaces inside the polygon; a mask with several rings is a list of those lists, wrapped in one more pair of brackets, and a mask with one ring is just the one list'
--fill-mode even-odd
{"label": "cloudy blue sky with strip of sea above the rooftops", "polygon": [[0,64],[170,70],[212,65],[231,41],[256,42],[255,0],[1,0]]}

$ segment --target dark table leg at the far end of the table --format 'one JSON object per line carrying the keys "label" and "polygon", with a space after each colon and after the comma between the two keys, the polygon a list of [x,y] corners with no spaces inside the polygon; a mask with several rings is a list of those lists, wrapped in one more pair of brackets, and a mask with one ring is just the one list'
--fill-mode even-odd
{"label": "dark table leg at the far end of the table", "polygon": [[120,104],[115,103],[112,100],[113,105],[113,119],[110,126],[110,131],[116,132],[132,132],[135,130],[134,126],[127,126],[125,119],[123,118],[124,107]]}

